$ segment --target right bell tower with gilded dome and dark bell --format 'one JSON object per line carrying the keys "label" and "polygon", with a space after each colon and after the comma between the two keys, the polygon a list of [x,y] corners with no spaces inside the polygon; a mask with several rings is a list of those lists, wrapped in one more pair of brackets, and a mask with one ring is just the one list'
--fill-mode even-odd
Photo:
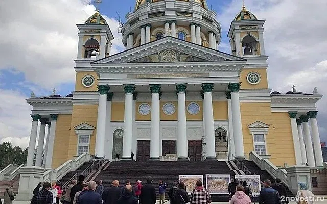
{"label": "right bell tower with gilded dome and dark bell", "polygon": [[263,25],[265,20],[245,8],[244,0],[241,12],[231,22],[228,37],[231,54],[236,56],[265,56]]}

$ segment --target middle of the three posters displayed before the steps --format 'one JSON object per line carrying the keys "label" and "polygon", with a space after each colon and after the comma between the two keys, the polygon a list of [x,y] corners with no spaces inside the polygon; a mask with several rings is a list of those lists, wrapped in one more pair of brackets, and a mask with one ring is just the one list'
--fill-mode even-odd
{"label": "middle of the three posters displayed before the steps", "polygon": [[230,175],[205,175],[206,189],[210,194],[228,194]]}

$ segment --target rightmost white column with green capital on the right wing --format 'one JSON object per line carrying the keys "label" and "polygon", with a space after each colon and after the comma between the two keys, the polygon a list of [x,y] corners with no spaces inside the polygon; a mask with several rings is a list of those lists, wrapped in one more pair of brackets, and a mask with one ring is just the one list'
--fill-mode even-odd
{"label": "rightmost white column with green capital on the right wing", "polygon": [[317,114],[318,111],[310,111],[307,113],[310,117],[311,130],[312,130],[312,139],[313,146],[315,151],[316,166],[323,166],[322,150],[320,143],[320,136],[317,123]]}

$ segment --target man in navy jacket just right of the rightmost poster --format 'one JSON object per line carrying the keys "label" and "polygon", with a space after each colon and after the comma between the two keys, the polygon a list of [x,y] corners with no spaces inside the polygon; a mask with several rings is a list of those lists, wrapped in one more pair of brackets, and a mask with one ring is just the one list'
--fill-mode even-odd
{"label": "man in navy jacket just right of the rightmost poster", "polygon": [[278,191],[271,188],[271,181],[266,179],[264,181],[265,188],[260,191],[259,194],[259,203],[260,204],[281,204],[281,197],[279,196]]}

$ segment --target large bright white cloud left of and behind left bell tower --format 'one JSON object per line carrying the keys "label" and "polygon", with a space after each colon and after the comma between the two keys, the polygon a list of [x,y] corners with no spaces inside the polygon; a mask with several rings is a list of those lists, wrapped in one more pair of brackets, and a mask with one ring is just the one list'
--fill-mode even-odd
{"label": "large bright white cloud left of and behind left bell tower", "polygon": [[[4,0],[0,2],[0,69],[14,67],[26,80],[51,89],[75,80],[78,29],[95,13],[89,1]],[[14,12],[13,12],[14,10]],[[107,19],[112,33],[112,53],[122,50],[118,22]]]}

